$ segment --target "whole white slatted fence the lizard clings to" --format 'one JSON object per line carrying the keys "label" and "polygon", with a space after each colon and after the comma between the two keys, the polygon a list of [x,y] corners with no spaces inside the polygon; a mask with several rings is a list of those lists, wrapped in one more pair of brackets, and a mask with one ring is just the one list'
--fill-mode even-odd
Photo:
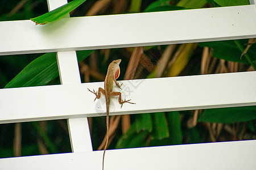
{"label": "whole white slatted fence the lizard clings to", "polygon": [[[37,26],[30,20],[0,22],[0,55],[57,52],[62,83],[0,89],[0,123],[68,118],[73,151],[0,159],[1,169],[101,169],[102,151],[92,151],[86,117],[105,114],[104,106],[96,109],[104,99],[93,102],[87,90],[103,87],[103,83],[81,83],[74,50],[255,38],[256,11],[251,2],[247,6],[64,18]],[[53,9],[66,1],[48,3]],[[117,105],[112,115],[256,105],[256,71],[123,83],[136,104],[122,109]],[[117,103],[112,100],[112,104]],[[132,148],[108,150],[105,169],[256,169],[255,158],[256,141]]]}

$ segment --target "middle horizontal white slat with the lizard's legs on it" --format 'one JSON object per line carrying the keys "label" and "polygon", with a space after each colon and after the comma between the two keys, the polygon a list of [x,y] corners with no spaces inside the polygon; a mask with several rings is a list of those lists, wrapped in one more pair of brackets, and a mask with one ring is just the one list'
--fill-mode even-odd
{"label": "middle horizontal white slat with the lizard's legs on it", "polygon": [[[123,104],[112,97],[110,115],[256,105],[256,71],[126,80]],[[104,95],[87,90],[103,82],[0,89],[0,123],[105,115]],[[116,87],[114,91],[119,91]]]}

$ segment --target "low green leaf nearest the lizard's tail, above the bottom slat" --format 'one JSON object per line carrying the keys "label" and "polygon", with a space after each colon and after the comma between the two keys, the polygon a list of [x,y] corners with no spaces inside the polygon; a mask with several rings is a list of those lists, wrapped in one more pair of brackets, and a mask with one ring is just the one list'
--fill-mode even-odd
{"label": "low green leaf nearest the lizard's tail, above the bottom slat", "polygon": [[136,124],[133,123],[126,134],[122,135],[122,137],[118,139],[115,148],[145,147],[148,134],[148,131],[140,131],[137,133]]}

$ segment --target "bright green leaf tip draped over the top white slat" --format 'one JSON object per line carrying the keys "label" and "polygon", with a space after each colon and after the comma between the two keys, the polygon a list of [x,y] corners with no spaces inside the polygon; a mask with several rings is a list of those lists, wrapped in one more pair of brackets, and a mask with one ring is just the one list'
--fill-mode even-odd
{"label": "bright green leaf tip draped over the top white slat", "polygon": [[69,12],[75,10],[76,7],[80,6],[86,0],[74,0],[71,1],[55,10],[49,11],[46,14],[40,15],[36,18],[31,18],[32,22],[36,23],[36,25],[44,25],[50,22],[54,22],[59,20],[63,16],[67,15]]}

